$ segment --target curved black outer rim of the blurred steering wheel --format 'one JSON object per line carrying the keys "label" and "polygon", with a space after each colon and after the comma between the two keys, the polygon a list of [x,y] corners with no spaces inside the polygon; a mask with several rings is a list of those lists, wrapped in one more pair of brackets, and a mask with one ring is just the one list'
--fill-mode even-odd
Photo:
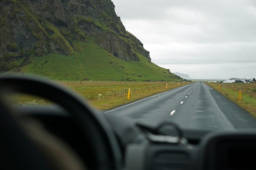
{"label": "curved black outer rim of the blurred steering wheel", "polygon": [[90,146],[94,151],[94,160],[97,162],[96,169],[121,169],[121,151],[112,128],[101,115],[102,113],[92,108],[84,99],[50,82],[49,79],[38,77],[2,76],[0,87],[0,94],[7,89],[18,93],[28,93],[49,99],[65,108],[83,132],[90,136]]}

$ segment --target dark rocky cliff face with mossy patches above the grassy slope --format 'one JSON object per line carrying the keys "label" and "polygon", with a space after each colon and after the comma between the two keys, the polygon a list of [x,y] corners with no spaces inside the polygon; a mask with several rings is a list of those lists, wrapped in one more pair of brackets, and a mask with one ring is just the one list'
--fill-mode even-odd
{"label": "dark rocky cliff face with mossy patches above the grassy slope", "polygon": [[111,0],[0,0],[0,62],[48,53],[73,55],[74,42],[93,38],[126,61],[150,60],[126,31]]}

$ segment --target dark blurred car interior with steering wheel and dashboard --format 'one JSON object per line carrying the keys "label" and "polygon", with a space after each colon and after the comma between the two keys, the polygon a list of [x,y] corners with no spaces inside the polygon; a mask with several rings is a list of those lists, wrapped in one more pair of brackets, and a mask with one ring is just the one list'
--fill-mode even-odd
{"label": "dark blurred car interior with steering wheel and dashboard", "polygon": [[[0,77],[1,170],[255,170],[256,132],[139,124],[48,79]],[[54,104],[20,106],[25,93]]]}

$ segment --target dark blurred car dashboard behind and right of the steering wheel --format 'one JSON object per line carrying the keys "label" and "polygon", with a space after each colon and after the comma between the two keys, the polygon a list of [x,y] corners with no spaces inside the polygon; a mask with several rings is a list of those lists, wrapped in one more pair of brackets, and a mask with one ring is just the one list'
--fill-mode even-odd
{"label": "dark blurred car dashboard behind and right of the steering wheel", "polygon": [[[67,141],[85,164],[93,167],[90,157],[93,151],[85,147],[88,139],[82,139],[75,125],[68,123],[68,113],[61,107],[44,106],[38,110],[35,106],[19,106],[17,110],[22,117],[37,119],[52,134]],[[191,130],[166,123],[167,128],[163,126],[165,129],[157,132],[158,127],[103,115],[115,132],[122,152],[122,166],[128,170],[256,169],[252,156],[256,151],[256,132],[252,130]]]}

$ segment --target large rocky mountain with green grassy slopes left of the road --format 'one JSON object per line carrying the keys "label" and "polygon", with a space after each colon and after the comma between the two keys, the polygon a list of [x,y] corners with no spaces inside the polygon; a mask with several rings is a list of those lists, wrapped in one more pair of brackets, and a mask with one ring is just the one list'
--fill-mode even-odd
{"label": "large rocky mountain with green grassy slopes left of the road", "polygon": [[180,79],[151,62],[111,0],[1,0],[0,26],[1,72],[53,79]]}

